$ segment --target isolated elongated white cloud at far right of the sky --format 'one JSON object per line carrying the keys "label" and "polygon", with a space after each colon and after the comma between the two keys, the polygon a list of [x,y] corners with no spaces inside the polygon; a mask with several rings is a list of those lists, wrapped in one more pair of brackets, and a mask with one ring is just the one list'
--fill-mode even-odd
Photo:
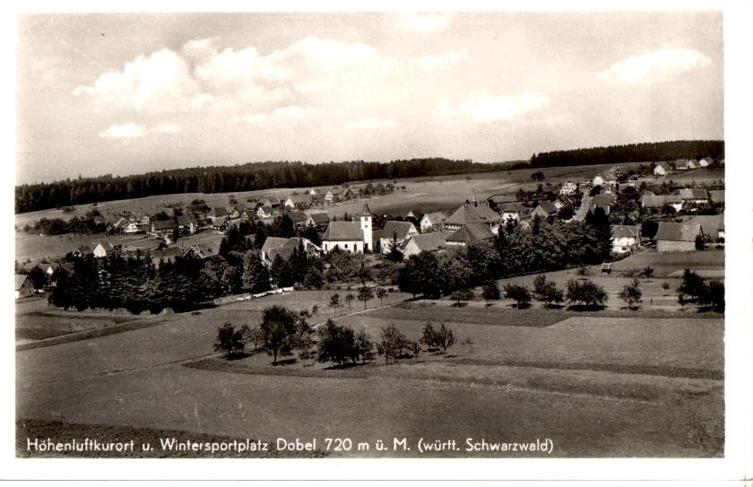
{"label": "isolated elongated white cloud at far right of the sky", "polygon": [[598,78],[608,83],[662,83],[710,64],[711,59],[696,50],[664,47],[610,65]]}

